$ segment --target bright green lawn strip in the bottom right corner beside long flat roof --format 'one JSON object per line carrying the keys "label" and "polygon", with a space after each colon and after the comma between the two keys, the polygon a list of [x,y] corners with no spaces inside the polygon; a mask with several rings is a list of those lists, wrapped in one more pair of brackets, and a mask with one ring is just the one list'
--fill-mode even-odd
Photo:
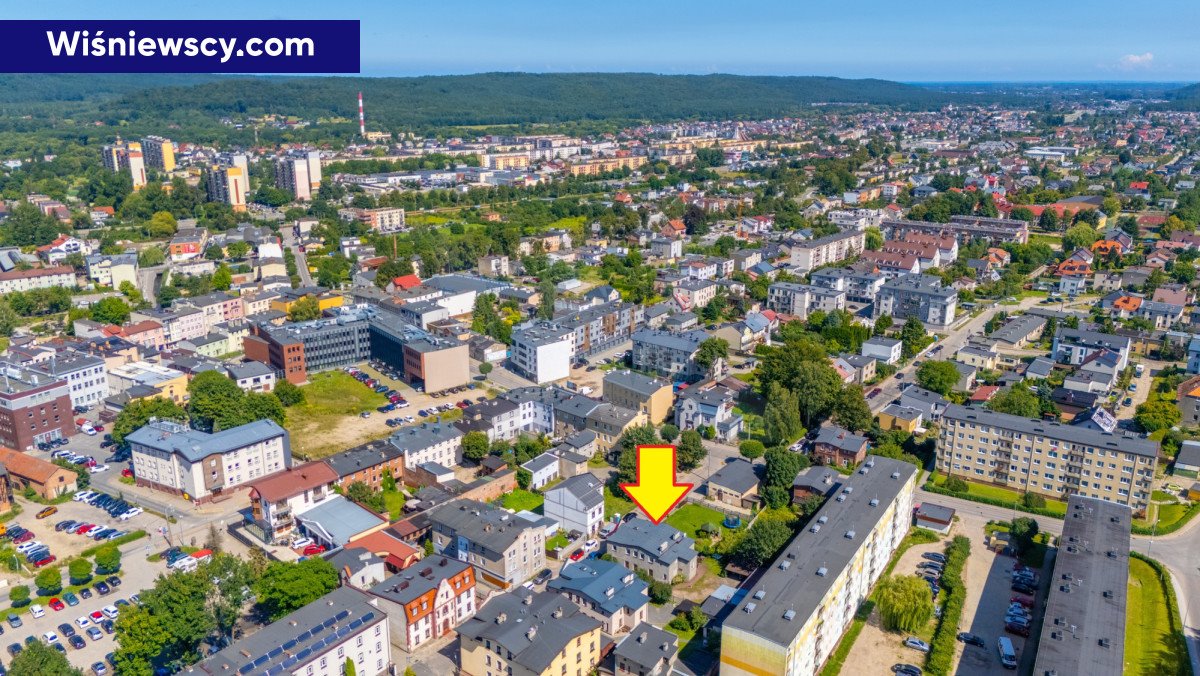
{"label": "bright green lawn strip in the bottom right corner beside long flat roof", "polygon": [[1166,605],[1158,573],[1140,558],[1129,558],[1126,608],[1124,672],[1133,676],[1176,676],[1192,672],[1180,618]]}

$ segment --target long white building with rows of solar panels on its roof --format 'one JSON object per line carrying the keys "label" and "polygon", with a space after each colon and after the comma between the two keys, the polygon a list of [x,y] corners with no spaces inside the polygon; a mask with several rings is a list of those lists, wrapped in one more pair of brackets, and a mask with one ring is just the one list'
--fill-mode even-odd
{"label": "long white building with rows of solar panels on its roof", "polygon": [[349,660],[355,674],[377,676],[391,668],[390,633],[379,599],[354,587],[338,587],[192,669],[210,676],[341,676]]}

